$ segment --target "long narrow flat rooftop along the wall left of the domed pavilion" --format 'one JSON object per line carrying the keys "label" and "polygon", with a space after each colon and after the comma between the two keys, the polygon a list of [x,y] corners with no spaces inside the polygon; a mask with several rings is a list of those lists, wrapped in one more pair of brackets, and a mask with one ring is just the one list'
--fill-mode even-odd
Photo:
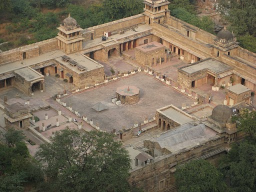
{"label": "long narrow flat rooftop along the wall left of the domed pavilion", "polygon": [[2,64],[2,65],[0,64],[0,74],[10,72],[10,71],[13,71],[15,69],[22,68],[25,66],[31,66],[34,64],[45,62],[47,60],[50,60],[50,59],[53,59],[53,58],[56,58],[59,56],[63,56],[63,55],[65,55],[64,52],[56,49],[56,50],[53,50],[50,52],[43,53],[39,56],[27,58],[24,60],[17,60],[14,62],[9,62],[7,64]]}

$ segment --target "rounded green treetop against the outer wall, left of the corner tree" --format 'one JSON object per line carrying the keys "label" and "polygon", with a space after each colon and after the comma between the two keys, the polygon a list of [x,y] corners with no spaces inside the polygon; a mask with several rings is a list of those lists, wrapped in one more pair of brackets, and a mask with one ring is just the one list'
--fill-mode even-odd
{"label": "rounded green treetop against the outer wall, left of the corner tree", "polygon": [[206,160],[192,160],[179,166],[174,174],[178,192],[226,191],[222,174]]}

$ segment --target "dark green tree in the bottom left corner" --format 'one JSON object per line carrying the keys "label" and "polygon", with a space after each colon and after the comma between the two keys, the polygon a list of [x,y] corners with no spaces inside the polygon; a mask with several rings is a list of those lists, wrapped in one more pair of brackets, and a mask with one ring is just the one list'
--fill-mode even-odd
{"label": "dark green tree in the bottom left corner", "polygon": [[29,155],[21,131],[10,128],[0,143],[0,191],[24,191],[23,184],[42,180],[38,163]]}

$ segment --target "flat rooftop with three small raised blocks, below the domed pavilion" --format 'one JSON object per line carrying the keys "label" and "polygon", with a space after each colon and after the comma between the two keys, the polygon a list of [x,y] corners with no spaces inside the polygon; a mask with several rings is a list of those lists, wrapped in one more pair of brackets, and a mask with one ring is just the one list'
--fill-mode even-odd
{"label": "flat rooftop with three small raised blocks, below the domed pavilion", "polygon": [[97,61],[85,56],[84,54],[81,54],[79,52],[75,52],[75,53],[71,53],[71,54],[67,54],[66,56],[68,56],[70,58],[70,60],[73,60],[75,62],[77,62],[77,65],[81,65],[83,67],[85,67],[85,70],[79,70],[76,66],[72,66],[69,64],[69,62],[64,61],[61,57],[55,58],[56,61],[58,61],[59,63],[63,64],[64,66],[66,66],[67,68],[71,69],[72,71],[76,72],[76,73],[83,73],[84,71],[88,71],[88,70],[92,70],[95,68],[100,68],[103,67],[102,64],[99,64]]}

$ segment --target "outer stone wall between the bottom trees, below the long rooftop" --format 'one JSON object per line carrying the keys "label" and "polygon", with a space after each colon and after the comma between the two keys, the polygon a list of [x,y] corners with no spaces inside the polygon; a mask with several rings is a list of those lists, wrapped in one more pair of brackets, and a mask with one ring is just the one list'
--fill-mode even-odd
{"label": "outer stone wall between the bottom trees, below the long rooftop", "polygon": [[[168,191],[175,188],[175,180],[172,168],[176,164],[182,164],[190,159],[200,157],[220,147],[225,146],[225,137],[220,136],[215,140],[208,141],[190,149],[184,149],[177,154],[163,155],[154,159],[143,167],[138,167],[130,171],[129,183],[137,187],[142,187],[144,191]],[[164,180],[164,189],[160,189],[159,182]]]}

